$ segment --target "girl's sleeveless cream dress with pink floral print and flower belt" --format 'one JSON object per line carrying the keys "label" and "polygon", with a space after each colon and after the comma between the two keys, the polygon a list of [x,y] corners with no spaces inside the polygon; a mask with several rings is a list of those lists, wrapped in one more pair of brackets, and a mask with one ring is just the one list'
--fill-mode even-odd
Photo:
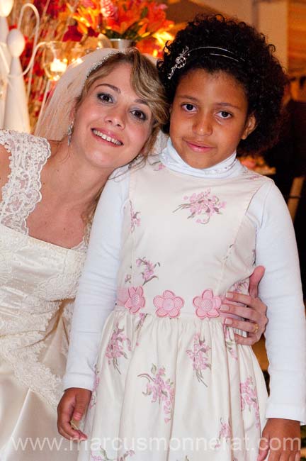
{"label": "girl's sleeveless cream dress with pink floral print and flower belt", "polygon": [[[153,165],[152,165],[153,163]],[[103,330],[79,460],[252,461],[266,386],[220,306],[247,293],[270,179],[206,179],[147,162],[132,172],[118,300]]]}

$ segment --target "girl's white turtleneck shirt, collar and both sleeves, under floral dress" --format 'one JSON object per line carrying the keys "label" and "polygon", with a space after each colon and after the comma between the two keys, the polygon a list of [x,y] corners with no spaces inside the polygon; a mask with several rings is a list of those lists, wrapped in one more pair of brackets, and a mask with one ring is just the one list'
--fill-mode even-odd
{"label": "girl's white turtleneck shirt, collar and both sleeves, under floral dress", "polygon": [[[159,158],[170,170],[203,177],[235,177],[244,168],[233,153],[214,167],[196,170],[183,162],[170,140]],[[130,182],[129,172],[122,172],[108,181],[96,209],[74,308],[65,389],[92,389],[101,331],[115,305],[123,210]],[[293,224],[273,182],[256,192],[246,216],[256,227],[256,265],[266,268],[259,287],[259,296],[268,306],[265,335],[271,397],[266,416],[306,423],[305,310],[300,268]]]}

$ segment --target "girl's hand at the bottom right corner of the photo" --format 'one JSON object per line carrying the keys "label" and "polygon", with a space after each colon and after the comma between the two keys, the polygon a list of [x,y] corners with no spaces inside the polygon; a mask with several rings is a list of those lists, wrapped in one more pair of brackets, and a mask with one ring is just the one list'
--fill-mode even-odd
{"label": "girl's hand at the bottom right corner of the photo", "polygon": [[257,461],[300,461],[300,422],[268,419],[263,429]]}

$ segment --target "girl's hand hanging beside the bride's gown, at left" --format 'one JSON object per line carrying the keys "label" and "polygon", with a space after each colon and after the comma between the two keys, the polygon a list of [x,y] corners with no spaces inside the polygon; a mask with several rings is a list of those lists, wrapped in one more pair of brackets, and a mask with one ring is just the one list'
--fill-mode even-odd
{"label": "girl's hand hanging beside the bride's gown, at left", "polygon": [[[64,391],[60,404],[57,406],[57,429],[68,440],[86,440],[86,434],[77,427],[91,399],[91,391],[80,387],[70,387]],[[73,421],[72,421],[73,420]]]}

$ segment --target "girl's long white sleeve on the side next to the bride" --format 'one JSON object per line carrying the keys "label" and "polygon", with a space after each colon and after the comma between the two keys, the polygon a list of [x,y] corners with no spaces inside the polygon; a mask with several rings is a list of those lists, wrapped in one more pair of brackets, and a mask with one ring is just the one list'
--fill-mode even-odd
{"label": "girl's long white sleeve on the side next to the bride", "polygon": [[64,389],[92,389],[103,325],[115,306],[129,174],[109,179],[98,202],[74,305]]}

